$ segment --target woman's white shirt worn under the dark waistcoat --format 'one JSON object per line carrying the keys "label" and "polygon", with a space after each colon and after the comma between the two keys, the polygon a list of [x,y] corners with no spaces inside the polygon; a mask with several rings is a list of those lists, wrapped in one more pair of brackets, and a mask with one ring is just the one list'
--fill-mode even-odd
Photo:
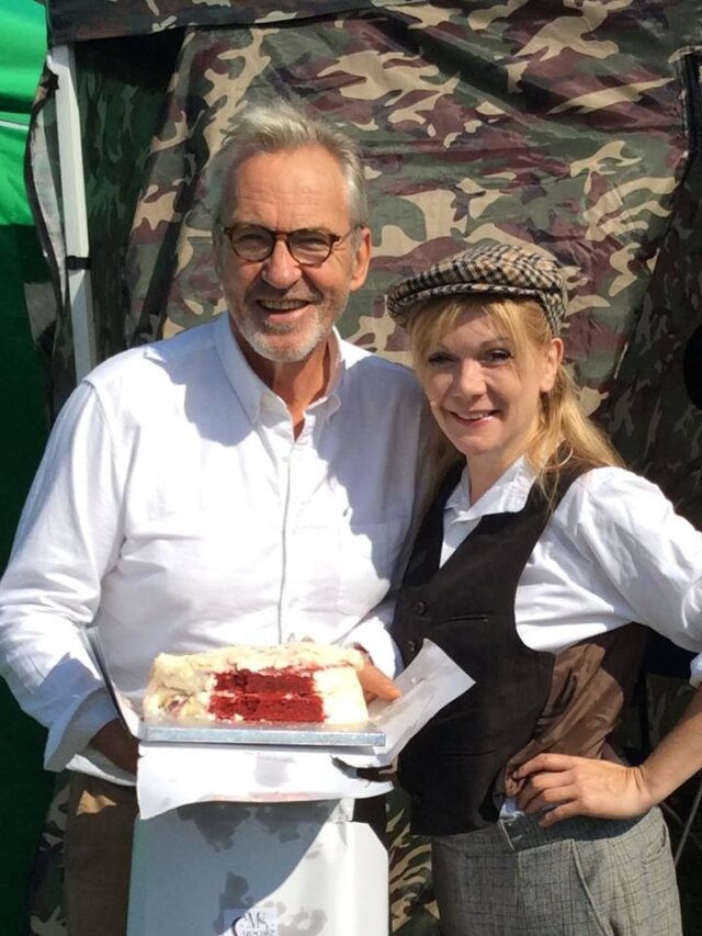
{"label": "woman's white shirt worn under the dark waistcoat", "polygon": [[[443,564],[488,514],[521,510],[534,481],[524,458],[471,505],[466,472],[444,511]],[[656,485],[619,467],[593,469],[567,489],[517,588],[517,632],[557,652],[631,621],[702,650],[702,533]],[[702,656],[692,664],[702,681]]]}

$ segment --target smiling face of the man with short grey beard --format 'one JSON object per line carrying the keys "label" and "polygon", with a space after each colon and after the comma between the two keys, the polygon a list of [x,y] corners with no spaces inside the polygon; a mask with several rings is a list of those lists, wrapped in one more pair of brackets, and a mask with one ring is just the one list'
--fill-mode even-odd
{"label": "smiling face of the man with short grey beard", "polygon": [[[313,228],[341,237],[352,227],[341,168],[320,146],[249,157],[229,179],[225,200],[225,227]],[[301,266],[280,237],[270,257],[251,261],[220,236],[215,257],[239,343],[268,361],[292,363],[326,340],[349,293],[364,283],[370,233],[346,237],[315,267]]]}

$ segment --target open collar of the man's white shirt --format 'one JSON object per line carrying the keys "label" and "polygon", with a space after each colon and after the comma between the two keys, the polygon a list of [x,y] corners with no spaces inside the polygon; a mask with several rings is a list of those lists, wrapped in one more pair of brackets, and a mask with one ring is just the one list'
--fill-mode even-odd
{"label": "open collar of the man's white shirt", "polygon": [[[215,346],[219,360],[227,375],[227,380],[231,384],[234,392],[239,398],[239,403],[244,407],[249,420],[257,422],[261,413],[263,399],[279,397],[267,384],[253,372],[249,362],[244,357],[244,352],[239,347],[239,342],[234,337],[231,326],[229,325],[229,315],[223,312],[214,323],[215,329]],[[342,347],[343,342],[339,338],[339,332],[335,328],[327,339],[331,366],[329,369],[329,383],[327,392],[322,397],[316,399],[308,409],[321,407],[327,402],[329,403],[330,411],[338,409],[340,401],[338,387],[344,372],[344,361]]]}

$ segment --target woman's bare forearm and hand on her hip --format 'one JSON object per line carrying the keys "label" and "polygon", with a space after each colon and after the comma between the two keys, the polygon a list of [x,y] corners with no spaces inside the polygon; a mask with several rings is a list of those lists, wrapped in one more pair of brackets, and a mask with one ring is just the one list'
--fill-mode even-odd
{"label": "woman's bare forearm and hand on her hip", "polygon": [[702,686],[678,724],[639,766],[539,754],[514,771],[514,779],[526,779],[517,803],[528,813],[546,810],[543,826],[574,815],[630,819],[665,800],[700,769]]}

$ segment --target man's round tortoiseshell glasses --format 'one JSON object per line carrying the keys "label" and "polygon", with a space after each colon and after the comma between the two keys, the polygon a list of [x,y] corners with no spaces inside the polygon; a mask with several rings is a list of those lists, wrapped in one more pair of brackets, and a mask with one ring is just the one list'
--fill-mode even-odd
{"label": "man's round tortoiseshell glasses", "polygon": [[242,260],[260,262],[267,260],[275,241],[282,238],[293,259],[303,267],[318,267],[329,258],[335,247],[346,240],[356,228],[346,234],[331,234],[324,228],[301,227],[298,230],[269,230],[254,224],[235,224],[223,227],[231,249]]}

